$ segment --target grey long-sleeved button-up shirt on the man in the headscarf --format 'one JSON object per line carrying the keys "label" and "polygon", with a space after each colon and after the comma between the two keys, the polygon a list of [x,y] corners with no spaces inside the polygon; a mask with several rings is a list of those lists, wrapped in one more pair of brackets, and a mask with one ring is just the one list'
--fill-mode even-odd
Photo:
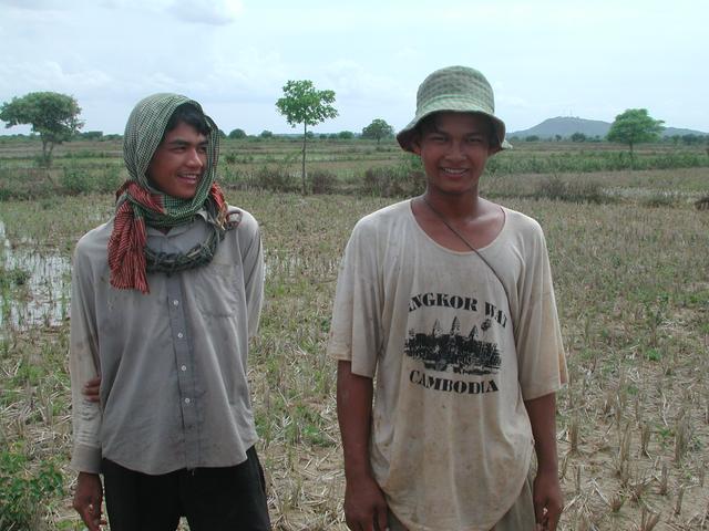
{"label": "grey long-sleeved button-up shirt on the man in the headscarf", "polygon": [[[84,235],[74,254],[70,371],[72,467],[101,458],[132,470],[227,467],[257,436],[247,383],[248,339],[258,326],[264,262],[258,223],[242,211],[208,266],[148,273],[150,294],[110,283],[113,219]],[[158,252],[205,240],[204,212],[168,233],[147,229]],[[82,395],[101,375],[101,404]]]}

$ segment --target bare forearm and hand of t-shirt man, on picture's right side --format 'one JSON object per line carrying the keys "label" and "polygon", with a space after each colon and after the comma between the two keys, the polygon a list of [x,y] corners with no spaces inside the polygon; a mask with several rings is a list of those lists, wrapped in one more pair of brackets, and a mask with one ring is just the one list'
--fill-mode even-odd
{"label": "bare forearm and hand of t-shirt man, on picture's right side", "polygon": [[526,400],[524,405],[532,424],[537,459],[533,492],[534,514],[543,529],[554,531],[564,508],[556,454],[556,394]]}

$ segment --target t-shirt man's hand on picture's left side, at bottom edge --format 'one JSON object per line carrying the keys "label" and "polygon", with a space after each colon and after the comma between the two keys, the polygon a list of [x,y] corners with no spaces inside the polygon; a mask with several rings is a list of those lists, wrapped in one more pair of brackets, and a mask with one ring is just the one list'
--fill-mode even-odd
{"label": "t-shirt man's hand on picture's left side, at bottom edge", "polygon": [[370,476],[348,480],[345,488],[345,521],[352,531],[384,531],[387,501]]}

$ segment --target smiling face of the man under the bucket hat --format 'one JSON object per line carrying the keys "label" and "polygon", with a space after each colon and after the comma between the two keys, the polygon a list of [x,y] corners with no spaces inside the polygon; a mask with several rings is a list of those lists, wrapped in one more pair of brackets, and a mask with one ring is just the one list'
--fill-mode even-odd
{"label": "smiling face of the man under the bucket hat", "polygon": [[477,195],[477,183],[487,157],[490,121],[479,114],[443,112],[419,129],[412,143],[421,157],[430,191]]}

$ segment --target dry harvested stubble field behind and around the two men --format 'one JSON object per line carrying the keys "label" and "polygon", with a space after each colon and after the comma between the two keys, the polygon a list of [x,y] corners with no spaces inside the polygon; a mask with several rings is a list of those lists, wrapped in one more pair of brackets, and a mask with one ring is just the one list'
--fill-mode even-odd
{"label": "dry harvested stubble field behind and around the two men", "polygon": [[[269,269],[249,376],[275,529],[343,530],[330,304],[351,227],[391,200],[228,196],[259,219]],[[541,221],[555,275],[571,376],[558,398],[562,528],[707,529],[709,216],[690,204],[504,204]],[[111,198],[1,205],[13,243],[66,257]],[[2,334],[0,444],[59,458],[71,488],[68,323]],[[50,529],[80,529],[69,494],[47,507]]]}

